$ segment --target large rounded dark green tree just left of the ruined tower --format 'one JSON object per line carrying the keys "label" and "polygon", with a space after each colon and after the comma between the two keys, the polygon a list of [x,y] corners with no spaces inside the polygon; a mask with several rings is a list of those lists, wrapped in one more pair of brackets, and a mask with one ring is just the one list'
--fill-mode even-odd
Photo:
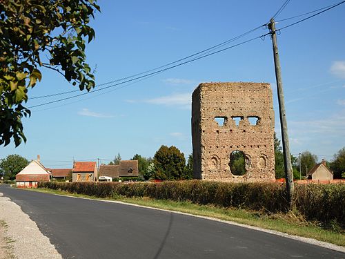
{"label": "large rounded dark green tree just left of the ruined tower", "polygon": [[159,180],[181,180],[184,174],[186,158],[184,153],[175,146],[162,145],[153,157],[155,174],[153,178]]}

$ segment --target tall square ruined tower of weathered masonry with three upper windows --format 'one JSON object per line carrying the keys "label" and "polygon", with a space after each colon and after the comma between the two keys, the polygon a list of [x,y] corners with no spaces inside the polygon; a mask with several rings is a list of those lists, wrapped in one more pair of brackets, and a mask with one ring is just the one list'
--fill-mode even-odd
{"label": "tall square ruined tower of weathered masonry with three upper windows", "polygon": [[[236,118],[241,119],[238,125]],[[217,119],[224,123],[219,125]],[[256,124],[250,124],[255,119]],[[274,124],[269,84],[200,84],[192,103],[194,177],[228,182],[274,180]],[[245,175],[231,173],[233,151],[244,152]]]}

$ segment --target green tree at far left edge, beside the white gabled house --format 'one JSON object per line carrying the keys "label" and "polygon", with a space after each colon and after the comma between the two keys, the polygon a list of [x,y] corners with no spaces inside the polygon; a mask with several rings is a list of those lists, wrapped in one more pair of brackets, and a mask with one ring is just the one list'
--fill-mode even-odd
{"label": "green tree at far left edge, beside the white gabled house", "polygon": [[5,180],[14,180],[17,173],[24,169],[29,161],[20,155],[8,155],[0,160],[0,173]]}

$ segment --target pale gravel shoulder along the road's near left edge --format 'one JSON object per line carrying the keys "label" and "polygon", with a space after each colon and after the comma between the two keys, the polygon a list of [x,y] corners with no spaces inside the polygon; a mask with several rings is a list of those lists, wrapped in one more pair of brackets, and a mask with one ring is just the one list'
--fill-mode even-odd
{"label": "pale gravel shoulder along the road's near left edge", "polygon": [[0,193],[0,222],[3,222],[0,226],[0,259],[62,259],[37,224],[3,193]]}

